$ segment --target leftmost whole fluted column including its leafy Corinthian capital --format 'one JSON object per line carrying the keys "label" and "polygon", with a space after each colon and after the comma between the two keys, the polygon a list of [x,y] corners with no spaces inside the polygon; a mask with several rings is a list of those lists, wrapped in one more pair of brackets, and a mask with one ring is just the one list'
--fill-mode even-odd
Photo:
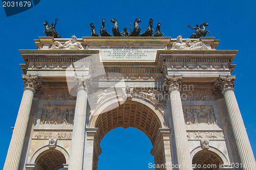
{"label": "leftmost whole fluted column including its leafy Corinthian capital", "polygon": [[29,122],[29,115],[32,106],[32,100],[39,87],[41,87],[38,75],[23,75],[22,79],[25,83],[22,102],[20,103],[16,123],[12,133],[12,139],[9,145],[7,157],[5,160],[5,170],[15,170],[19,168],[20,161],[22,160],[23,143]]}

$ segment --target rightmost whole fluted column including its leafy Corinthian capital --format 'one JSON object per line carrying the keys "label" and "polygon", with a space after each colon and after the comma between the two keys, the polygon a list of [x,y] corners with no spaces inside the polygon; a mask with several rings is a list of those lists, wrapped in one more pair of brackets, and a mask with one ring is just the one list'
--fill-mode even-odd
{"label": "rightmost whole fluted column including its leafy Corinthian capital", "polygon": [[235,80],[236,76],[220,75],[215,86],[222,90],[222,94],[224,95],[224,99],[226,101],[228,116],[230,118],[234,138],[236,140],[238,153],[241,160],[240,167],[242,169],[255,169],[255,158],[253,156],[242,115],[238,107],[238,102],[236,96],[234,95],[233,83]]}

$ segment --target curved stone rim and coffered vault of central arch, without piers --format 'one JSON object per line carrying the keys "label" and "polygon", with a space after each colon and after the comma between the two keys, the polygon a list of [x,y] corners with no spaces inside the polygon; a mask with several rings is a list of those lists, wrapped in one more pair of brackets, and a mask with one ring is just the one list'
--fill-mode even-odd
{"label": "curved stone rim and coffered vault of central arch, without piers", "polygon": [[134,127],[144,132],[154,144],[159,128],[167,128],[163,112],[151,101],[133,95],[132,100],[111,98],[92,111],[89,128],[98,128],[99,142],[117,127]]}

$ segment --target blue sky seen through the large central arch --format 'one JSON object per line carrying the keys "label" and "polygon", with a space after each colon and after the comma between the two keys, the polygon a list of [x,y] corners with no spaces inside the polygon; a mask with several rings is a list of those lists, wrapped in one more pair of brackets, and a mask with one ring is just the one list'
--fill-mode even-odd
{"label": "blue sky seen through the large central arch", "polygon": [[154,163],[150,153],[153,145],[148,137],[136,128],[122,127],[111,130],[100,142],[98,170],[155,169],[148,168]]}

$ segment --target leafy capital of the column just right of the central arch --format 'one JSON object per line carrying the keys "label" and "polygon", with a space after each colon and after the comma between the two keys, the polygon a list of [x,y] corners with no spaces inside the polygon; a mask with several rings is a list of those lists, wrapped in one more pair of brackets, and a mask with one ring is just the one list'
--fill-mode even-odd
{"label": "leafy capital of the column just right of the central arch", "polygon": [[167,87],[168,91],[175,90],[179,88],[181,85],[182,75],[173,75],[173,76],[166,76],[164,85]]}

